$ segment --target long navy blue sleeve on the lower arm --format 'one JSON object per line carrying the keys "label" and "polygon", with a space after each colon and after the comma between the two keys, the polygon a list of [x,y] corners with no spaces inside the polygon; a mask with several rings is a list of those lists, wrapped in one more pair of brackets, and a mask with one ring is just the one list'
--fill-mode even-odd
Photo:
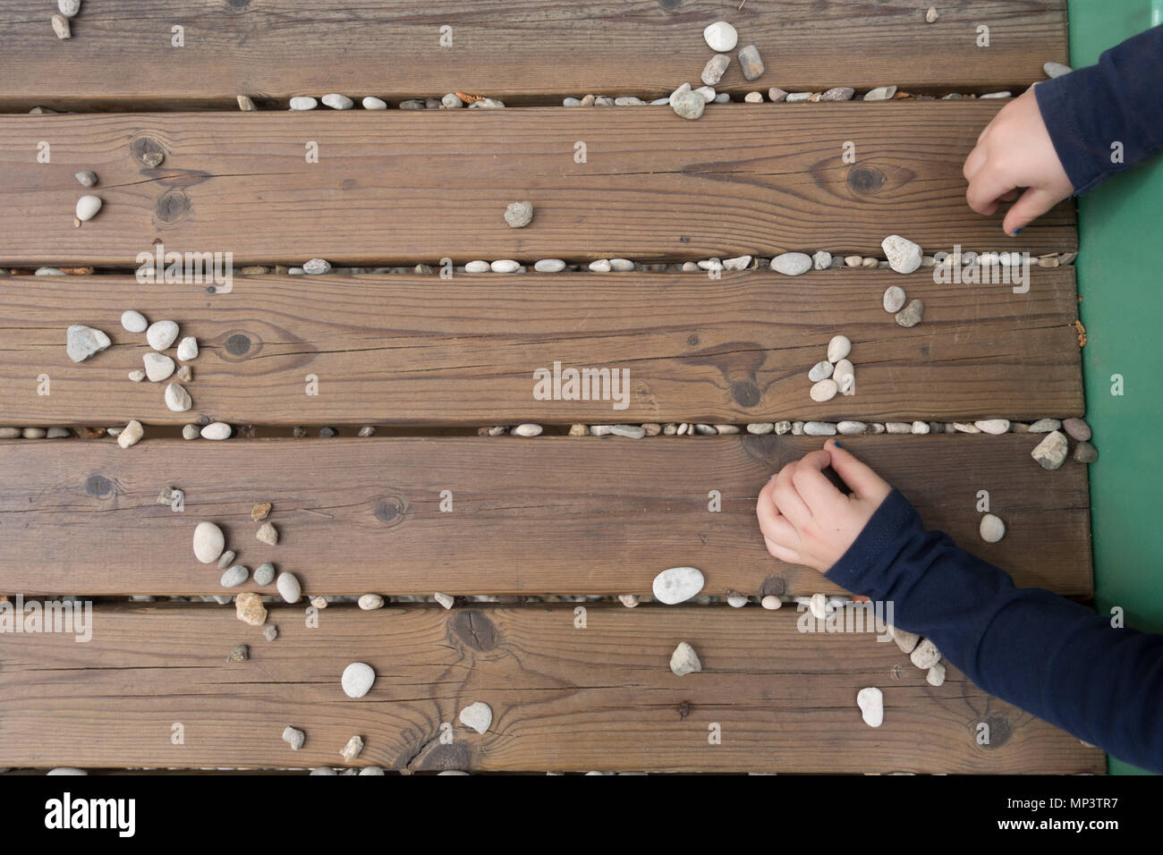
{"label": "long navy blue sleeve on the lower arm", "polygon": [[892,601],[973,683],[1108,754],[1163,772],[1163,635],[1039,587],[926,532],[897,490],[825,576]]}

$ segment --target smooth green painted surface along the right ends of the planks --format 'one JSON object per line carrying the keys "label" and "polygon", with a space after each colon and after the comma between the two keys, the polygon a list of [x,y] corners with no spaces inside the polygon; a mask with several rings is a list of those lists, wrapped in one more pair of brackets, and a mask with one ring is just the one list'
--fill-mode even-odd
{"label": "smooth green painted surface along the right ends of the planks", "polygon": [[[1093,65],[1107,48],[1163,22],[1163,0],[1070,0],[1069,9],[1073,67]],[[1121,606],[1127,626],[1150,632],[1163,632],[1161,226],[1160,157],[1078,200],[1079,315],[1089,337],[1083,376],[1099,450],[1090,466],[1094,605],[1104,614]],[[1112,394],[1112,375],[1122,377],[1121,397]],[[1147,774],[1113,757],[1108,767]]]}

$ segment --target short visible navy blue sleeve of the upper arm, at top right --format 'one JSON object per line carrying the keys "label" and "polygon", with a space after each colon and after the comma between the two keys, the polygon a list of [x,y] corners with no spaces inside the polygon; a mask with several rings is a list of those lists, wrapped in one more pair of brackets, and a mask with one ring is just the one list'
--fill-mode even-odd
{"label": "short visible navy blue sleeve of the upper arm, at top right", "polygon": [[[1075,194],[1163,151],[1163,24],[1111,48],[1098,65],[1034,86]],[[1122,162],[1113,163],[1112,144]]]}

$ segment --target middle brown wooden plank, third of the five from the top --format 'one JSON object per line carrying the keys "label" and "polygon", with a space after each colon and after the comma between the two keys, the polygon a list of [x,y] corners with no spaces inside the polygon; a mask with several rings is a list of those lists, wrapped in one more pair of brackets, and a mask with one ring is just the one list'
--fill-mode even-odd
{"label": "middle brown wooden plank, third of the five from the top", "polygon": [[[605,277],[605,278],[602,278]],[[926,304],[904,329],[882,293]],[[15,425],[487,425],[1037,419],[1084,411],[1073,268],[1030,270],[1029,291],[936,284],[928,271],[487,277],[238,277],[229,293],[131,277],[36,277],[0,290],[0,421]],[[151,352],[121,312],[172,318],[200,343],[192,411],[127,373]],[[65,329],[114,345],[76,364]],[[816,404],[808,369],[843,333],[856,394]],[[534,372],[604,369],[605,399],[537,399]],[[51,393],[41,394],[48,375]],[[319,394],[308,396],[308,377]],[[566,389],[565,393],[569,393]]]}

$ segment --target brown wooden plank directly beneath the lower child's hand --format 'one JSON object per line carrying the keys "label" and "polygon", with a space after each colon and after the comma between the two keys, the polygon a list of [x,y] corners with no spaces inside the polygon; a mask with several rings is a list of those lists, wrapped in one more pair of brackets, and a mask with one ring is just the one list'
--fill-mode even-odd
{"label": "brown wooden plank directly beneath the lower child's hand", "polygon": [[[852,436],[850,447],[918,507],[1021,585],[1089,594],[1085,465],[1043,471],[1036,437]],[[227,532],[237,561],[273,561],[308,594],[649,594],[693,565],[705,593],[837,590],[771,558],[755,497],[809,436],[543,436],[0,443],[0,590],[216,594],[191,553],[195,523]],[[185,510],[158,505],[165,486]],[[977,493],[1008,532],[977,533]],[[450,491],[452,511],[440,510]],[[721,512],[709,511],[711,491]],[[279,543],[254,539],[274,505]],[[272,589],[273,592],[273,589]]]}

